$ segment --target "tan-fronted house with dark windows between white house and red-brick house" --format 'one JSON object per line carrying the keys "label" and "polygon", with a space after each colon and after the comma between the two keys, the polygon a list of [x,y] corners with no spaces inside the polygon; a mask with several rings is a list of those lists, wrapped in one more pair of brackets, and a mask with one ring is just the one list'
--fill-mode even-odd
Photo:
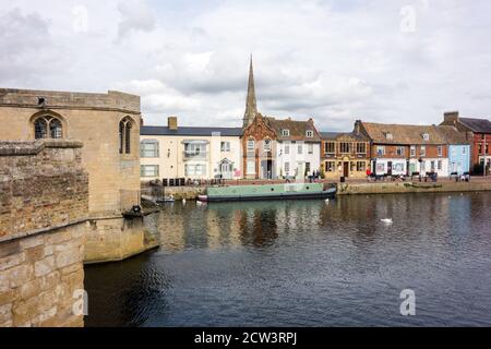
{"label": "tan-fronted house with dark windows between white house and red-brick house", "polygon": [[370,141],[361,133],[323,132],[322,168],[325,178],[364,178],[370,168]]}

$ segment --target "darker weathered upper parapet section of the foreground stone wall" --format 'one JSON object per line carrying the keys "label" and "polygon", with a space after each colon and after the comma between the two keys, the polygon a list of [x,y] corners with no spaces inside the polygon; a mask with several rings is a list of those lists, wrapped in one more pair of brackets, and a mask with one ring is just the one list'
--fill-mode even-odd
{"label": "darker weathered upper parapet section of the foreground stone wall", "polygon": [[0,241],[87,218],[81,147],[67,141],[0,142]]}

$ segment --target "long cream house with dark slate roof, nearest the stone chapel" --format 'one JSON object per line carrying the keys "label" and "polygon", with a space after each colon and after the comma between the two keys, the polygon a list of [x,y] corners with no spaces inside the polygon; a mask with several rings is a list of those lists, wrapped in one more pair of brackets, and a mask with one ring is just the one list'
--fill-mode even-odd
{"label": "long cream house with dark slate roof, nearest the stone chapel", "polygon": [[142,127],[142,181],[240,179],[241,134],[241,128],[181,128],[176,117],[167,127]]}

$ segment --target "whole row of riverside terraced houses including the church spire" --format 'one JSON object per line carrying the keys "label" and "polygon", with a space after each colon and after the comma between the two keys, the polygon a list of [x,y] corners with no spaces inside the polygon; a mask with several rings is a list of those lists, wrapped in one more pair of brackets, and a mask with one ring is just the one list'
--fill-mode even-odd
{"label": "whole row of riverside terraced houses including the church spire", "polygon": [[447,112],[439,125],[356,121],[351,132],[321,132],[313,119],[292,120],[258,111],[252,62],[247,107],[239,128],[141,129],[143,181],[184,178],[326,179],[489,172],[491,121]]}

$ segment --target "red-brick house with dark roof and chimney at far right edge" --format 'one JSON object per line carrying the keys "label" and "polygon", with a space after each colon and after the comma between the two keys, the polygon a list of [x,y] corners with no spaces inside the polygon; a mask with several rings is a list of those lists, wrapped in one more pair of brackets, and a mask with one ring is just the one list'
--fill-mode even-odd
{"label": "red-brick house with dark roof and chimney at far right edge", "polygon": [[[471,135],[471,166],[486,164],[488,171],[491,167],[491,121],[486,119],[460,118],[458,111],[445,112],[442,125],[455,127],[460,132]],[[474,168],[471,168],[474,170]]]}

